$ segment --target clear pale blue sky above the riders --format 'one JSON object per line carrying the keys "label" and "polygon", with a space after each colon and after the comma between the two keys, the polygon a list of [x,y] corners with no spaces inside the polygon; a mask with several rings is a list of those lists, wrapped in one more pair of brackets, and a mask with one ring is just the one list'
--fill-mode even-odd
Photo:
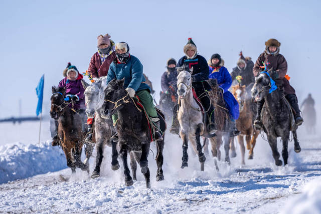
{"label": "clear pale blue sky above the riders", "polygon": [[320,8],[320,1],[1,1],[0,118],[18,115],[19,99],[22,114],[35,115],[42,74],[48,111],[67,62],[88,69],[105,33],[129,44],[156,94],[166,61],[184,55],[189,37],[206,59],[219,53],[230,72],[241,50],[256,60],[275,38],[299,101],[309,92],[321,99]]}

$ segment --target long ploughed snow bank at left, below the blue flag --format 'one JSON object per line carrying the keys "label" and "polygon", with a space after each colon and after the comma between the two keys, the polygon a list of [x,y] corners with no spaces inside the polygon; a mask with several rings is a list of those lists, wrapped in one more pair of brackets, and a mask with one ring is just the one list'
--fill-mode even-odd
{"label": "long ploughed snow bank at left, below the blue flag", "polygon": [[64,152],[58,146],[52,147],[50,141],[0,146],[0,183],[66,167]]}

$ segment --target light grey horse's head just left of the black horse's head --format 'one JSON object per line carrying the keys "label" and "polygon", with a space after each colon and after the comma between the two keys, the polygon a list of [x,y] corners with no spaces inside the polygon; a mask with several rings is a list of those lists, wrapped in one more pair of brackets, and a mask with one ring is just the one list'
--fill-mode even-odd
{"label": "light grey horse's head just left of the black horse's head", "polygon": [[104,89],[107,86],[107,77],[100,77],[92,84],[82,82],[85,88],[85,103],[87,117],[93,118],[95,111],[104,103]]}

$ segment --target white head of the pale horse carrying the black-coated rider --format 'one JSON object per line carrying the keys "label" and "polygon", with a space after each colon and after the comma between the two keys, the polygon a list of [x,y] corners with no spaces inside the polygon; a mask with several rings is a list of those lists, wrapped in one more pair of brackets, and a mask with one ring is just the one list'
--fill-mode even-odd
{"label": "white head of the pale horse carrying the black-coated rider", "polygon": [[188,70],[186,67],[180,67],[177,69],[179,75],[177,76],[177,94],[179,99],[184,99],[186,94],[192,88],[192,75],[193,68]]}

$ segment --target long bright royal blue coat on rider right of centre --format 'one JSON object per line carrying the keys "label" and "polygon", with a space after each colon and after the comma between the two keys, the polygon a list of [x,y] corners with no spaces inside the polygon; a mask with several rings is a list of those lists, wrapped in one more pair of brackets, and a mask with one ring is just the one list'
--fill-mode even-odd
{"label": "long bright royal blue coat on rider right of centre", "polygon": [[228,91],[232,85],[230,73],[224,66],[222,66],[218,71],[215,71],[213,67],[209,66],[209,70],[209,79],[217,80],[217,84],[223,89],[223,99],[227,109],[229,110],[230,116],[237,120],[240,116],[239,104],[233,94]]}

